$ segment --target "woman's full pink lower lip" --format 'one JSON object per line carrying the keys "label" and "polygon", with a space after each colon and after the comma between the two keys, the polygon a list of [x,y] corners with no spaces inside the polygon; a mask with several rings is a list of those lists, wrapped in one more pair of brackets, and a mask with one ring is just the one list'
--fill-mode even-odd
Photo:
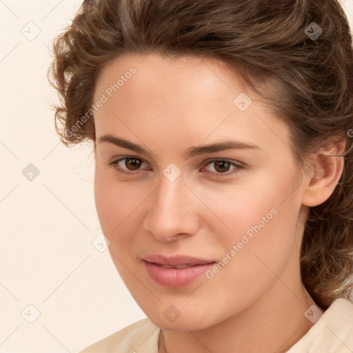
{"label": "woman's full pink lower lip", "polygon": [[168,288],[184,287],[202,276],[214,265],[214,263],[205,263],[205,265],[195,265],[188,268],[163,268],[148,261],[143,260],[143,263],[150,277]]}

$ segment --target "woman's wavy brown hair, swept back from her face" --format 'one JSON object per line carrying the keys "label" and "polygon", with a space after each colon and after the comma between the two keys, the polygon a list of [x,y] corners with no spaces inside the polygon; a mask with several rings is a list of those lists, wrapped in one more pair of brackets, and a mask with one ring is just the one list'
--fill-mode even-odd
{"label": "woman's wavy brown hair, swept back from her face", "polygon": [[[288,123],[299,165],[324,140],[336,134],[346,140],[339,184],[327,201],[310,208],[301,276],[323,308],[347,296],[353,272],[353,50],[339,1],[83,1],[54,39],[48,72],[59,92],[55,128],[62,143],[95,141],[90,108],[104,65],[124,53],[149,52],[220,60],[256,92],[259,78],[274,83],[276,90],[259,93]],[[77,128],[83,116],[88,119]]]}

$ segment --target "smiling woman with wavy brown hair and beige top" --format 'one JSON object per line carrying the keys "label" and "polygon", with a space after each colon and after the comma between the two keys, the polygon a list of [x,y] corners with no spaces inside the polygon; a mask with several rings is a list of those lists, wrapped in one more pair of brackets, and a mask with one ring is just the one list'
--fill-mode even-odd
{"label": "smiling woman with wavy brown hair and beige top", "polygon": [[334,0],[83,2],[56,127],[148,318],[82,352],[353,352],[352,62]]}

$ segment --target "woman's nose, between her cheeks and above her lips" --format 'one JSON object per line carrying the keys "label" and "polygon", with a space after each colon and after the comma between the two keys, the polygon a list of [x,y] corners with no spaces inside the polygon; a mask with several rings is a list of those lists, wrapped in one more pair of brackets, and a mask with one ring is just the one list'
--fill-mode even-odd
{"label": "woman's nose, between her cheeks and above her lips", "polygon": [[200,201],[184,184],[183,173],[174,181],[161,174],[157,190],[150,196],[143,228],[159,241],[174,241],[196,234]]}

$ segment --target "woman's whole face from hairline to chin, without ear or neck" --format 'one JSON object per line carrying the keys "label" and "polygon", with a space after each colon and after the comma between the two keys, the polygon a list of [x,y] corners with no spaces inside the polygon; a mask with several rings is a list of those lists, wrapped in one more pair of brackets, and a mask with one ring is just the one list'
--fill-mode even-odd
{"label": "woman's whole face from hairline to chin, without ear or neck", "polygon": [[239,77],[197,57],[129,54],[104,68],[98,101],[99,221],[155,324],[201,330],[299,290],[305,174],[287,126]]}

